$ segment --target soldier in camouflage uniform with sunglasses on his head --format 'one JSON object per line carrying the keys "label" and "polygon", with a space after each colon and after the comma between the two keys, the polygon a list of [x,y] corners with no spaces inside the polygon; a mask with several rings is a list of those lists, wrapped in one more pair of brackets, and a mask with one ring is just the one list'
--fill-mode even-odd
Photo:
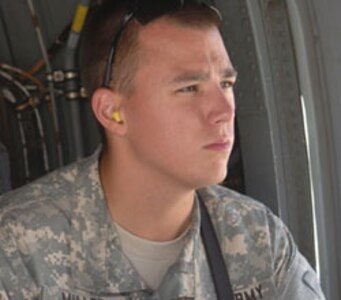
{"label": "soldier in camouflage uniform with sunglasses on his head", "polygon": [[216,185],[236,81],[220,22],[195,0],[93,10],[82,75],[105,143],[1,199],[1,299],[324,299],[284,224]]}

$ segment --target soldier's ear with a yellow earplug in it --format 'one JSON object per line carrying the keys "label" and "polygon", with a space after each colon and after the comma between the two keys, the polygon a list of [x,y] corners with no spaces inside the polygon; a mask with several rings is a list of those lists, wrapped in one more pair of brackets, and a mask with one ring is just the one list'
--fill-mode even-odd
{"label": "soldier's ear with a yellow earplug in it", "polygon": [[126,133],[127,126],[121,109],[122,101],[123,97],[120,94],[107,88],[99,88],[92,95],[92,110],[108,134],[123,136]]}

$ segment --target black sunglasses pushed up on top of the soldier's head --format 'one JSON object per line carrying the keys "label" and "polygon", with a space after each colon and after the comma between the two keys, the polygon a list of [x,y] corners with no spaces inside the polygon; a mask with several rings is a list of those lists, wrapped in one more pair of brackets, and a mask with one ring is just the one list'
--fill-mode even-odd
{"label": "black sunglasses pushed up on top of the soldier's head", "polygon": [[111,43],[110,53],[107,59],[103,84],[102,87],[109,87],[112,75],[112,65],[115,58],[116,48],[119,42],[119,39],[122,35],[123,30],[127,26],[130,20],[135,18],[141,25],[146,25],[147,23],[173,11],[181,10],[185,3],[195,3],[202,6],[205,6],[212,11],[214,11],[219,19],[222,19],[220,12],[214,6],[206,3],[203,0],[134,0],[130,1],[130,6],[127,9],[127,12],[124,14],[120,26],[113,37],[113,41]]}

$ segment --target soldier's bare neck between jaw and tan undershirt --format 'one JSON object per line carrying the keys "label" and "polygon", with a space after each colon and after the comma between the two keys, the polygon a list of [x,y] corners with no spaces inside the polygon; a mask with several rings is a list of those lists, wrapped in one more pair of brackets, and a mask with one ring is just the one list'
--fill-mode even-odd
{"label": "soldier's bare neck between jaw and tan undershirt", "polygon": [[[112,167],[116,166],[116,167]],[[103,155],[100,177],[108,209],[115,222],[152,241],[173,240],[188,227],[194,190],[174,187],[135,169],[120,168]]]}

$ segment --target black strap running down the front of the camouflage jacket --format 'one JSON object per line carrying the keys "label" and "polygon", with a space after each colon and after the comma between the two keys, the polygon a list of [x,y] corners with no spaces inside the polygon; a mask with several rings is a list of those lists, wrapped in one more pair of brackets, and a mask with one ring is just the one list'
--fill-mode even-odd
{"label": "black strap running down the front of the camouflage jacket", "polygon": [[201,237],[204,243],[208,264],[210,266],[214,287],[218,300],[233,300],[233,291],[225,266],[215,230],[207,208],[198,196],[201,213]]}

